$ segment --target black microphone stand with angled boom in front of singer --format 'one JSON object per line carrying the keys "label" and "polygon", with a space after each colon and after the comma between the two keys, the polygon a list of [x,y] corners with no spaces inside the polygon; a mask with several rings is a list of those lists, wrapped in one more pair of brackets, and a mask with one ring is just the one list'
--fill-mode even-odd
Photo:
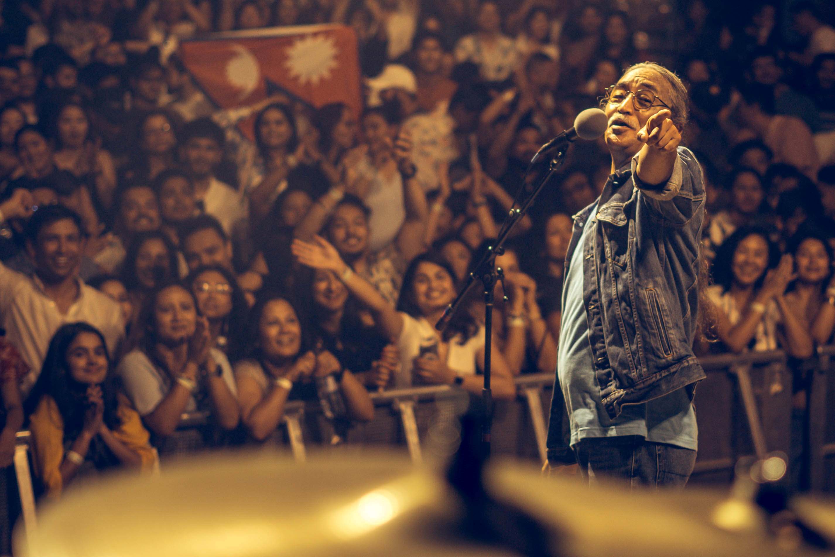
{"label": "black microphone stand with angled boom in front of singer", "polygon": [[[545,184],[559,170],[559,167],[563,165],[565,152],[568,148],[569,143],[566,143],[554,152],[548,165],[548,173],[544,175],[542,180],[539,180],[539,184],[536,185],[519,209],[510,210],[501,230],[498,232],[498,238],[496,238],[496,241],[491,246],[488,246],[487,252],[481,258],[481,261],[478,262],[474,271],[469,274],[467,284],[458,293],[458,296],[455,297],[452,303],[447,306],[447,309],[443,311],[443,316],[435,324],[435,329],[443,331],[448,326],[449,320],[458,311],[459,306],[461,306],[462,301],[470,289],[473,288],[475,282],[477,280],[481,281],[484,296],[484,387],[481,392],[484,405],[484,419],[481,426],[481,448],[484,458],[487,458],[490,454],[490,436],[493,428],[493,392],[490,388],[490,363],[491,353],[493,352],[493,290],[496,286],[496,281],[502,281],[504,285],[504,271],[502,271],[501,267],[496,268],[496,256],[504,253],[504,241],[507,240],[510,230],[513,230],[516,223],[522,220],[524,215],[528,213],[536,196],[539,195],[539,192],[544,188]],[[524,188],[524,184],[522,187]]]}

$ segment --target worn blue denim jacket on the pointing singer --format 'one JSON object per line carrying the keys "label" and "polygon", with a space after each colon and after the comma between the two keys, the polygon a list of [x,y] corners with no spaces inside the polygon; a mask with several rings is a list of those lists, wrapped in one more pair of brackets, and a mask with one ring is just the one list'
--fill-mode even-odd
{"label": "worn blue denim jacket on the pointing singer", "polygon": [[[670,180],[643,185],[637,155],[611,175],[595,204],[574,215],[565,274],[583,226],[583,297],[600,399],[611,418],[705,377],[692,344],[698,313],[699,251],[705,215],[701,167],[679,147]],[[631,167],[631,168],[630,168]],[[554,380],[548,453],[573,460],[564,435],[565,403]]]}

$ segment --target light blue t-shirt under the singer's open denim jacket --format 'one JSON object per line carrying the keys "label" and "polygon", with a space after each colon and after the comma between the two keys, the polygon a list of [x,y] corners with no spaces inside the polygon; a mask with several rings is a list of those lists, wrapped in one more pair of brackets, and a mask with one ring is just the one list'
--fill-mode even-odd
{"label": "light blue t-shirt under the singer's open denim jacket", "polygon": [[[597,205],[590,219],[596,211]],[[570,444],[584,438],[640,435],[653,443],[696,450],[696,413],[684,388],[644,404],[627,405],[615,419],[600,402],[583,302],[583,246],[590,228],[583,228],[563,286],[557,376],[569,414]]]}

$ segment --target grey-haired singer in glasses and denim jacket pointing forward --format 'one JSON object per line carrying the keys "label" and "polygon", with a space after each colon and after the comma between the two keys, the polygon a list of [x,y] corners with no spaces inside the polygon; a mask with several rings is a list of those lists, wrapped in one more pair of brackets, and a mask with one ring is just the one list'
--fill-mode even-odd
{"label": "grey-haired singer in glasses and denim jacket pointing forward", "polygon": [[687,90],[668,69],[639,63],[604,103],[612,174],[574,216],[546,468],[576,462],[590,483],[681,488],[696,462],[691,402],[705,377],[691,348],[705,188],[680,146]]}

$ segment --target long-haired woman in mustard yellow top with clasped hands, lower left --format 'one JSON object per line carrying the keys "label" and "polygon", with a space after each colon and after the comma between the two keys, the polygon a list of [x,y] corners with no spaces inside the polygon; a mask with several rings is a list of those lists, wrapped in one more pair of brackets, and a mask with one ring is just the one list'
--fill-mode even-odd
{"label": "long-haired woman in mustard yellow top with clasped hands, lower left", "polygon": [[26,410],[35,472],[50,498],[87,464],[98,470],[149,472],[156,453],[139,414],[119,393],[112,362],[98,329],[69,323],[49,342]]}

